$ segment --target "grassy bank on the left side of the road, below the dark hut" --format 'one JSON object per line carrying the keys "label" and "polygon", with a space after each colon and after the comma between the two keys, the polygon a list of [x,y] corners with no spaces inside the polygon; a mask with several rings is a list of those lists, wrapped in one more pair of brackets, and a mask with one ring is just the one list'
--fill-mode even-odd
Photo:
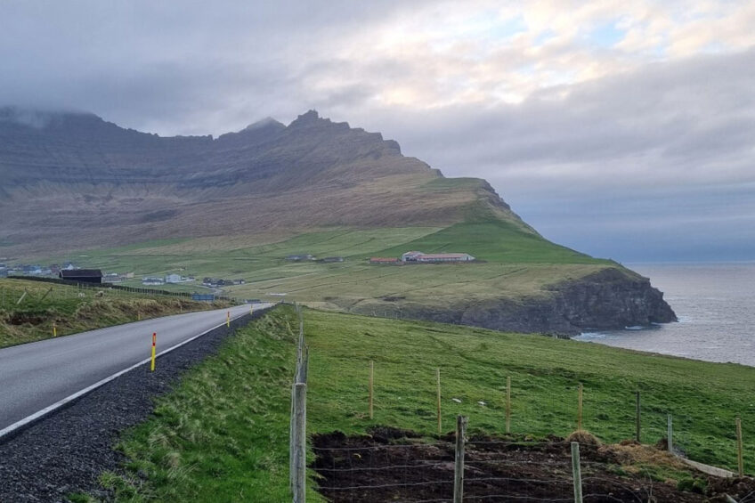
{"label": "grassy bank on the left side of the road, below the dark hut", "polygon": [[77,288],[40,281],[4,279],[0,280],[0,347],[53,337],[53,324],[57,335],[65,336],[138,319],[217,309],[227,305],[227,302],[208,304],[106,287]]}

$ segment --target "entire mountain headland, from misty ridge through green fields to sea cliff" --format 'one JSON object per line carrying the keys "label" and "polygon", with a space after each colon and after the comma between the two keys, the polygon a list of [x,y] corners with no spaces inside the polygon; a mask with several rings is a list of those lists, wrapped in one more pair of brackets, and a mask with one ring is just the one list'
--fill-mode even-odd
{"label": "entire mountain headland, from misty ridge through green fields to sea cliff", "polygon": [[[2,109],[0,177],[4,260],[90,250],[89,262],[101,256],[94,265],[141,275],[194,264],[199,277],[246,276],[231,295],[282,290],[326,308],[499,330],[574,334],[676,319],[649,280],[544,239],[487,181],[446,178],[398,142],[315,110],[214,138]],[[150,245],[165,239],[188,243]],[[147,255],[117,248],[139,243]],[[286,263],[307,247],[349,260]],[[478,262],[385,270],[354,253],[408,249]]]}

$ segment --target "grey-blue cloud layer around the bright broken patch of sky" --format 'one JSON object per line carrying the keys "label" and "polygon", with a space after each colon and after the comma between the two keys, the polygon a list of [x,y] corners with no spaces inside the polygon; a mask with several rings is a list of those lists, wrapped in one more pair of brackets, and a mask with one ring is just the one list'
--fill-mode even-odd
{"label": "grey-blue cloud layer around the bright broken patch of sky", "polygon": [[[550,87],[516,105],[377,108],[394,83],[446,71],[381,59],[359,37],[417,5],[4,2],[0,105],[89,110],[160,134],[221,134],[317,108],[396,139],[445,174],[489,179],[568,246],[624,260],[753,258],[755,49]],[[354,40],[363,56],[345,59],[339,50]],[[510,47],[491,61],[531,62]],[[506,84],[495,75],[483,83]]]}

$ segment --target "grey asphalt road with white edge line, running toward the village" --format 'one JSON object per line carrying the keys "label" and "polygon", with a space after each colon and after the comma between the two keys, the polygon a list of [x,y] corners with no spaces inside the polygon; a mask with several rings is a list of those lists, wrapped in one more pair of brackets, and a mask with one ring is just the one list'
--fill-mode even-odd
{"label": "grey asphalt road with white edge line, running toward the village", "polygon": [[[255,309],[271,304],[256,304]],[[226,312],[190,312],[0,349],[0,436],[72,395],[222,325]],[[231,320],[249,312],[230,309]],[[159,360],[157,362],[159,365]],[[147,363],[149,365],[149,363]]]}

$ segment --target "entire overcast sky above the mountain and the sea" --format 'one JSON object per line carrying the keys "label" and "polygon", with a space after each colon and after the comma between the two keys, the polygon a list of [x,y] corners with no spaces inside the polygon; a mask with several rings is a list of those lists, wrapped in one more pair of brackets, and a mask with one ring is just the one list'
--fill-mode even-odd
{"label": "entire overcast sky above the mountain and the sea", "polygon": [[753,27],[755,1],[3,0],[0,105],[164,135],[316,109],[592,255],[755,260]]}

